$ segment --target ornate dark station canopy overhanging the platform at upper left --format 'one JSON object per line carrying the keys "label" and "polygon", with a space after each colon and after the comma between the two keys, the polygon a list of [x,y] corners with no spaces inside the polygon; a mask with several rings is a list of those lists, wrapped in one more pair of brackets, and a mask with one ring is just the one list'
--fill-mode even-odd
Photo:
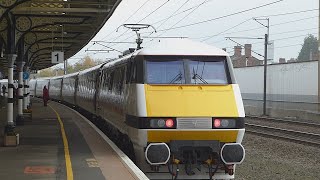
{"label": "ornate dark station canopy overhanging the platform at upper left", "polygon": [[7,74],[6,54],[17,54],[16,62],[25,61],[30,70],[53,66],[53,51],[70,58],[96,35],[120,2],[0,0],[0,71]]}

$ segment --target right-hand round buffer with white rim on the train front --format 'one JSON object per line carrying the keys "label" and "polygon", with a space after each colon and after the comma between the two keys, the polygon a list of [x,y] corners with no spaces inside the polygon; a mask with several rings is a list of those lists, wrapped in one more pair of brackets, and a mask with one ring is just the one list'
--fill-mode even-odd
{"label": "right-hand round buffer with white rim on the train front", "polygon": [[222,146],[220,155],[225,164],[241,164],[245,150],[240,143],[226,143]]}

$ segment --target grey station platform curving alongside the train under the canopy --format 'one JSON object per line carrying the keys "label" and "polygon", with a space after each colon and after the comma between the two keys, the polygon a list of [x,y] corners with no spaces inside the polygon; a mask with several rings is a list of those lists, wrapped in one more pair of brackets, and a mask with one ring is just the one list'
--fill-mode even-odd
{"label": "grey station platform curving alongside the train under the canopy", "polygon": [[[3,98],[2,98],[3,101]],[[0,110],[0,179],[140,179],[81,115],[55,102],[33,100],[32,121],[17,126],[17,147],[3,147],[6,108]],[[143,175],[141,176],[143,177]]]}

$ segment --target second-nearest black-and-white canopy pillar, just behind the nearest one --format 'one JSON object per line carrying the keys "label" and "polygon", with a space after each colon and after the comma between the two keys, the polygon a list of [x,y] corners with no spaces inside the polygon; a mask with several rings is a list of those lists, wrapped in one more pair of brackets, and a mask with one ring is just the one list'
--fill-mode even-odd
{"label": "second-nearest black-and-white canopy pillar, just behind the nearest one", "polygon": [[18,65],[18,73],[19,73],[19,84],[18,84],[18,116],[17,116],[17,121],[16,124],[17,125],[23,125],[23,66],[24,66],[25,62],[23,61],[19,61],[17,63]]}

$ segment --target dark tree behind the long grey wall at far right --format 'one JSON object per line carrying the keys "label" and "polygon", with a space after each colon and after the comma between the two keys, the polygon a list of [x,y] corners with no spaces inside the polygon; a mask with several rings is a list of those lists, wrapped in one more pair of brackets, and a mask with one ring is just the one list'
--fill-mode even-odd
{"label": "dark tree behind the long grey wall at far right", "polygon": [[310,60],[310,54],[318,52],[318,40],[312,34],[304,38],[302,48],[300,50],[298,61]]}

